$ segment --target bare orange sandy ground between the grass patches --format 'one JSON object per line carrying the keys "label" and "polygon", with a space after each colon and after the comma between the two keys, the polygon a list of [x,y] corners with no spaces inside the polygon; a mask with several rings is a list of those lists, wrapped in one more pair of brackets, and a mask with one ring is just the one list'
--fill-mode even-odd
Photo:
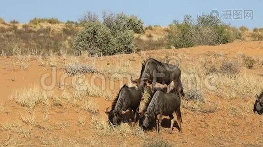
{"label": "bare orange sandy ground between the grass patches", "polygon": [[[106,69],[109,66],[116,69],[122,68],[122,66],[125,66],[124,63],[129,61],[133,73],[138,75],[141,68],[140,62],[144,56],[163,60],[170,55],[180,55],[181,67],[183,68],[188,62],[198,62],[201,56],[224,56],[224,58],[232,59],[236,58],[241,52],[255,58],[262,58],[263,42],[234,42],[219,46],[152,50],[136,54],[104,56],[92,59],[77,58],[80,62],[86,64],[90,64],[93,61],[95,67],[99,69]],[[29,128],[31,132],[28,136],[25,136],[23,133],[4,130],[0,127],[0,146],[143,146],[143,143],[151,138],[163,138],[173,146],[263,146],[263,117],[253,113],[255,100],[253,96],[255,94],[228,99],[215,95],[213,92],[205,91],[205,97],[209,101],[201,107],[209,108],[216,103],[217,110],[214,112],[193,111],[189,107],[182,107],[183,134],[180,134],[176,128],[173,131],[174,134],[168,134],[170,121],[165,117],[162,123],[162,133],[156,134],[155,128],[153,128],[145,132],[144,139],[129,132],[119,136],[103,135],[98,133],[100,131],[92,125],[92,115],[89,112],[81,106],[67,103],[49,107],[38,104],[33,112],[37,125],[29,126],[21,121],[21,116],[28,114],[26,108],[16,104],[15,101],[9,100],[9,97],[15,90],[32,85],[40,85],[40,79],[43,74],[51,73],[52,68],[48,65],[40,66],[37,57],[31,57],[28,62],[29,68],[23,69],[14,64],[17,58],[19,57],[0,57],[0,105],[4,108],[0,111],[0,124],[18,121],[25,128]],[[52,91],[58,97],[62,93],[59,79],[65,73],[64,66],[68,58],[58,57],[57,59],[56,84]],[[263,78],[263,68],[258,65],[252,69],[243,67],[242,70],[255,77]],[[87,74],[86,79],[90,82],[94,80],[95,85],[100,88],[103,85],[103,82],[94,78],[94,74]],[[51,81],[52,79],[48,78],[46,83],[49,84]],[[66,89],[70,92],[72,91],[71,81],[72,77],[68,77],[65,82]],[[128,79],[125,79],[123,83],[131,85]],[[110,88],[111,84],[114,85],[113,88]],[[105,85],[105,91],[112,97],[115,97],[119,87],[122,86],[117,80],[111,80],[109,75],[105,76]],[[98,116],[106,120],[107,116],[104,110],[111,105],[111,100],[101,97],[93,97],[93,100],[99,107]],[[185,103],[188,102],[186,101]],[[248,109],[240,108],[244,105]],[[234,108],[234,110],[230,108]],[[49,112],[48,121],[43,120],[43,117],[45,117],[44,111]],[[80,116],[85,116],[86,118],[86,121],[81,125],[77,124]]]}

